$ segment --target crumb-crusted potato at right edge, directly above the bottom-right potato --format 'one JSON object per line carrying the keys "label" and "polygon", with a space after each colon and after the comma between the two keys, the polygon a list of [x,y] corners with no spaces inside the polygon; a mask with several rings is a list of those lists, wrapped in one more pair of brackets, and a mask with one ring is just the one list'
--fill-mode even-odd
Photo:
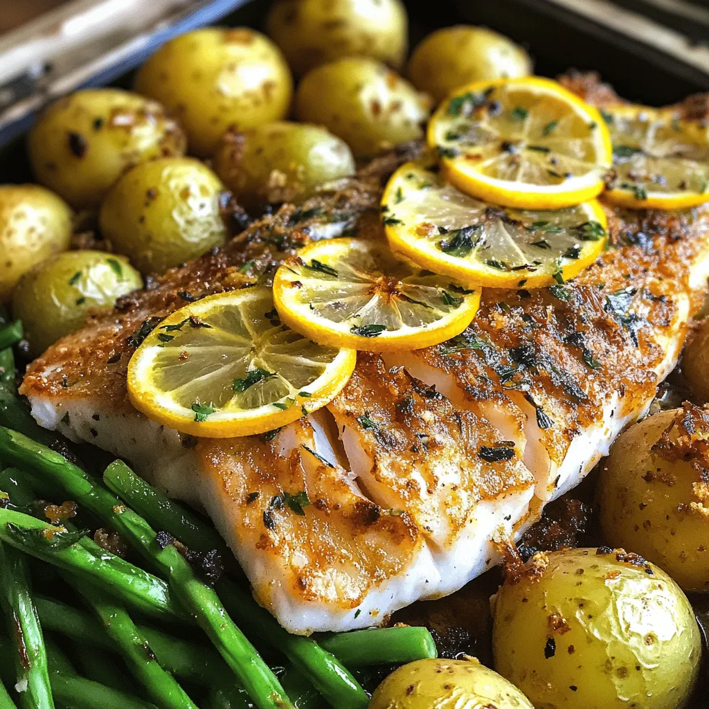
{"label": "crumb-crusted potato at right edge, directly above the bottom-right potato", "polygon": [[678,411],[632,425],[610,449],[598,480],[601,528],[610,545],[632,549],[685,591],[709,591],[709,510],[698,472],[650,450]]}

